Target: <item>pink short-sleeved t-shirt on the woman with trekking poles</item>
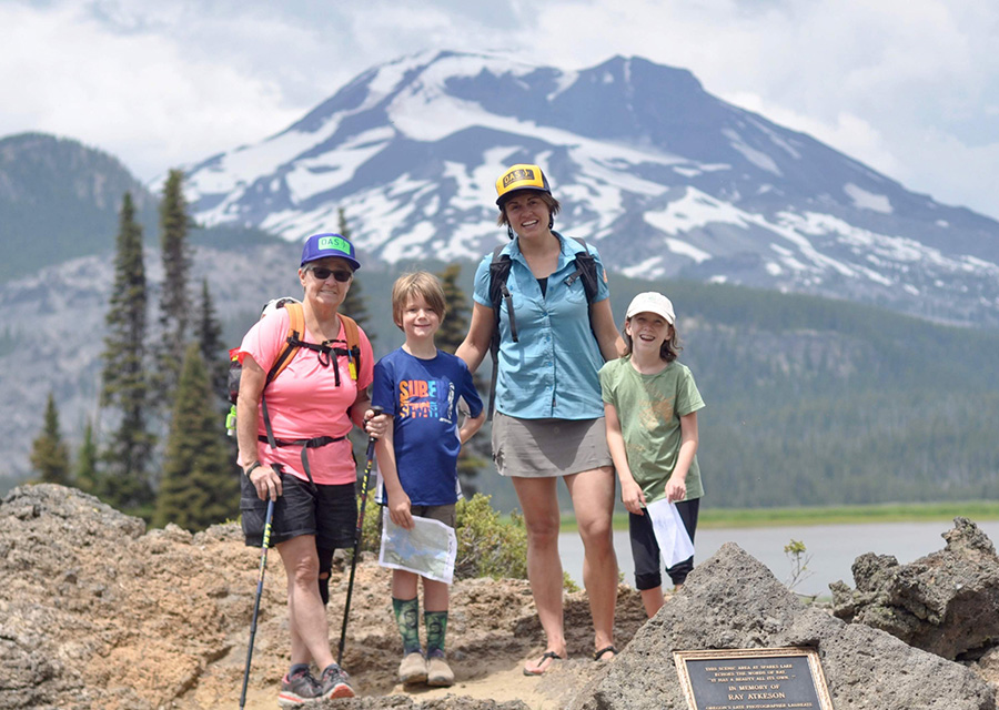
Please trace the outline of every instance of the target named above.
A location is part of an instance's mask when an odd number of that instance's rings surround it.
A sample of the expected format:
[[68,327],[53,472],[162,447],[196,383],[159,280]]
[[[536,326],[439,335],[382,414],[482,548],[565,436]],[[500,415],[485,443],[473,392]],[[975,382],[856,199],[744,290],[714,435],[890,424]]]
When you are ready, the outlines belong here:
[[[243,337],[240,349],[270,372],[278,353],[287,337],[289,315],[279,308],[265,318],[256,322]],[[305,342],[320,343],[311,333],[305,334]],[[343,324],[336,343],[345,346]],[[268,414],[274,436],[285,442],[311,439],[317,436],[346,436],[353,424],[347,416],[347,407],[357,398],[359,387],[366,389],[372,382],[374,356],[371,342],[364,331],[359,328],[361,341],[361,372],[357,381],[351,379],[346,356],[336,358],[340,368],[340,386],[333,373],[333,363],[326,367],[320,363],[320,354],[300,347],[287,367],[264,389],[268,400]],[[325,357],[324,357],[325,359]],[[266,436],[263,413],[259,409],[258,434]],[[262,464],[282,464],[285,473],[303,480],[309,477],[302,469],[302,447],[284,446],[272,449],[266,442],[258,442],[256,455]],[[242,462],[241,462],[242,464]],[[351,443],[347,439],[309,449],[309,468],[316,484],[335,485],[354,483],[357,471],[351,456]]]

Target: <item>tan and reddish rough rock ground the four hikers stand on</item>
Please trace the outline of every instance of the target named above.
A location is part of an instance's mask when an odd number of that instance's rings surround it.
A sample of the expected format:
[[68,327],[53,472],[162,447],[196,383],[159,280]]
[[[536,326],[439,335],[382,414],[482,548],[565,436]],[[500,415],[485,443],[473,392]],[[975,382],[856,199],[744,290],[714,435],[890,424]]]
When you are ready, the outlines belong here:
[[[196,535],[172,525],[147,531],[142,520],[74,488],[13,489],[0,501],[0,710],[236,707],[259,566],[260,550],[243,545],[234,524]],[[347,577],[334,569],[331,578],[334,643]],[[343,660],[362,697],[330,704],[527,708],[512,692],[495,702],[461,697],[460,687],[446,699],[391,694],[401,646],[390,579],[391,570],[376,561],[357,565]],[[287,668],[285,585],[272,551],[248,710],[275,706]],[[586,658],[578,662],[589,670],[593,628],[583,592],[566,595],[565,616],[569,652]],[[617,619],[624,645],[645,621],[634,589],[619,587]],[[541,652],[542,638],[526,580],[453,586],[447,647],[460,684],[517,667]]]

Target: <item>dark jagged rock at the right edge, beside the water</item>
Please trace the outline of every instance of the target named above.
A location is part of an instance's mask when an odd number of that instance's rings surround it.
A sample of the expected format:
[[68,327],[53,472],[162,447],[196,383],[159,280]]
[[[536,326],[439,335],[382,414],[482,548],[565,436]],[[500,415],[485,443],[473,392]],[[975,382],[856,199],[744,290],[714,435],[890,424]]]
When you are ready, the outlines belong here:
[[830,585],[834,613],[948,659],[977,659],[999,645],[999,557],[977,525],[953,523],[945,549],[909,565],[858,557],[856,590]]

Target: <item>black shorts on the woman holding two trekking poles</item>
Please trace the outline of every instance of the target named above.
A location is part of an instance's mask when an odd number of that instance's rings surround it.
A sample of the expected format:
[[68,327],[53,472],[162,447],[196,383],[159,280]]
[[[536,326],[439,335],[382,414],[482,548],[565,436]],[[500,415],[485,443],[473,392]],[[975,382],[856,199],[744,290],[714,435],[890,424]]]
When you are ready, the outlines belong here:
[[[246,545],[263,545],[268,501],[256,496],[250,478],[241,476],[243,535]],[[271,546],[299,537],[314,535],[319,549],[333,550],[354,546],[357,529],[357,498],[354,484],[316,485],[291,474],[281,474],[282,495],[274,503],[271,521]]]

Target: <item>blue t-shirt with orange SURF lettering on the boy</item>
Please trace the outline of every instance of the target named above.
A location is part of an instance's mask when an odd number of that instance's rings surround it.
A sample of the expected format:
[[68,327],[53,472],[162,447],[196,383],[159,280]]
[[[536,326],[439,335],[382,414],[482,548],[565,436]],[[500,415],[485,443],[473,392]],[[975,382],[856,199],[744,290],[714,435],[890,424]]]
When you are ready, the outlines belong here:
[[371,403],[394,418],[395,464],[414,506],[457,500],[458,400],[473,417],[482,399],[463,361],[437,351],[421,359],[398,348],[377,362]]

